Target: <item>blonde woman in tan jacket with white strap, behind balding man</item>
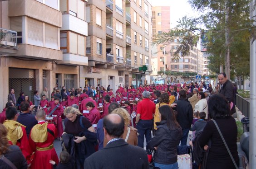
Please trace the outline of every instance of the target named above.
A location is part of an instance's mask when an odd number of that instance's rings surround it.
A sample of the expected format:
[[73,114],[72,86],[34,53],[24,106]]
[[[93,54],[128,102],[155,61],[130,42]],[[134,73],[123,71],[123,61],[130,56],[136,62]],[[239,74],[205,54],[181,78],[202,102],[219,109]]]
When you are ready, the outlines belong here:
[[[124,132],[123,139],[130,145],[137,146],[138,145],[138,134],[137,130],[133,127],[130,127],[131,116],[124,108],[116,108],[111,112],[111,114],[118,114],[123,117],[124,120]],[[107,145],[108,141],[104,138],[104,147]]]

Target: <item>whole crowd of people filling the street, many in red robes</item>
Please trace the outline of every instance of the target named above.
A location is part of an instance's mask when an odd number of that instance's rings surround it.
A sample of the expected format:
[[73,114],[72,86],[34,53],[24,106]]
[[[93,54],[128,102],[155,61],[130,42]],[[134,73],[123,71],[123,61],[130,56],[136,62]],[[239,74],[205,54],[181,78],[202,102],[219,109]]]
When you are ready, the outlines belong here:
[[[50,97],[47,88],[42,94],[34,91],[34,104],[24,92],[16,101],[10,89],[0,113],[0,155],[9,162],[0,160],[0,168],[13,164],[18,169],[147,169],[146,148],[155,151],[156,167],[177,169],[177,146],[187,145],[189,130],[193,131],[189,145],[206,151],[207,169],[235,168],[212,122],[217,122],[238,164],[237,127],[231,116],[235,91],[225,73],[218,79],[214,89],[204,82],[146,84],[136,89],[120,84],[115,93],[110,85],[107,89],[99,84],[84,89],[56,85]],[[62,141],[59,158],[54,139]],[[17,159],[14,154],[23,156]]]

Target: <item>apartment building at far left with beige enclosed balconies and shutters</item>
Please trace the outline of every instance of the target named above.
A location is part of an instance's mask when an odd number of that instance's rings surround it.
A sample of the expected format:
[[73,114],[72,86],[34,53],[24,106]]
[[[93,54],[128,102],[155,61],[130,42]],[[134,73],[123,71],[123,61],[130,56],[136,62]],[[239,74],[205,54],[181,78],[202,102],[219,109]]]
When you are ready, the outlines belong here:
[[[87,0],[1,0],[0,109],[9,89],[33,101],[34,91],[80,86],[85,55]],[[60,11],[61,9],[61,11]]]

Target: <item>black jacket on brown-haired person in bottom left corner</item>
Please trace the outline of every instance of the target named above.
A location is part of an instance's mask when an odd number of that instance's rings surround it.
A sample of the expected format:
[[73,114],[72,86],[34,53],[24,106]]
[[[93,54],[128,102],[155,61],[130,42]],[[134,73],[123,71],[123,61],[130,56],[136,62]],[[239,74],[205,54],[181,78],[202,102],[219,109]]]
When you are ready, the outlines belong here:
[[[9,151],[4,154],[5,157],[10,160],[17,167],[17,169],[27,169],[28,165],[21,153],[20,147],[11,145],[8,148]],[[3,160],[0,160],[0,169],[10,169],[10,166]]]

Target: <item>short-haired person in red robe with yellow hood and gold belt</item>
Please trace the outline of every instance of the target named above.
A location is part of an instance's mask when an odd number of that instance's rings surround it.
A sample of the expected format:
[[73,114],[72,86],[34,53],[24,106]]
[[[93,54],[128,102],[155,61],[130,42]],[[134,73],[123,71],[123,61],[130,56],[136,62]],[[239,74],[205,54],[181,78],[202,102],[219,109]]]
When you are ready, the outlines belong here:
[[[57,129],[54,124],[45,122],[45,112],[38,110],[36,112],[38,124],[30,131],[29,143],[34,158],[30,169],[53,169],[53,165],[49,160],[59,163],[58,155],[54,149],[54,139],[57,137]],[[62,134],[62,133],[61,133]]]

